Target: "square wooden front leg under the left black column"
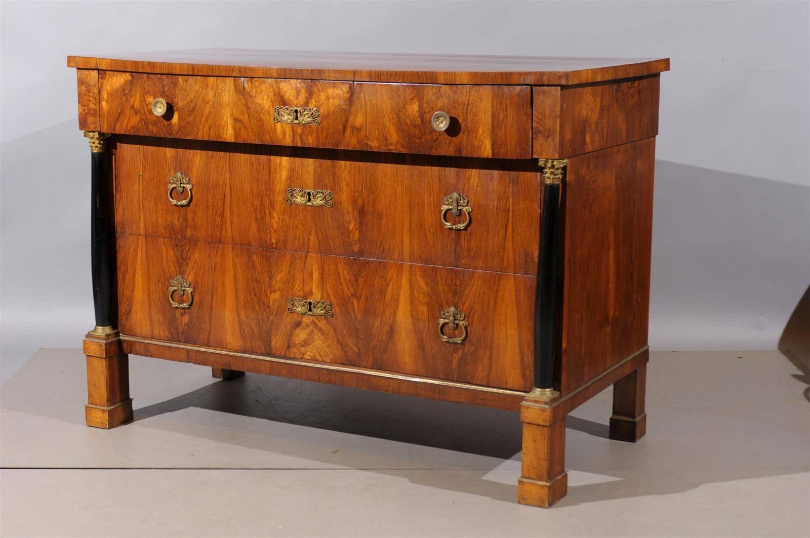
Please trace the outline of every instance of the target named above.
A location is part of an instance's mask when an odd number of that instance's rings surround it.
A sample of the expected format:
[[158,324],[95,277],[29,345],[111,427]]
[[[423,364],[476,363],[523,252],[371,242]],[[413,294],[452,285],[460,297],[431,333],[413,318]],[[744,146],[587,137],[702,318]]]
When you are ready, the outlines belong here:
[[131,421],[129,357],[122,351],[118,332],[87,333],[83,350],[87,358],[87,425],[110,429]]

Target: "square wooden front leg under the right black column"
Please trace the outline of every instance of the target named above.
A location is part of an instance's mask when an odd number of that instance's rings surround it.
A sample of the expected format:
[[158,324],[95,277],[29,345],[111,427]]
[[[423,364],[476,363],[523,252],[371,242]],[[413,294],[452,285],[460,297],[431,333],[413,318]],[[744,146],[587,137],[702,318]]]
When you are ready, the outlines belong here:
[[551,425],[537,424],[533,400],[521,405],[523,454],[518,480],[518,502],[548,508],[568,492],[565,472],[565,416]]

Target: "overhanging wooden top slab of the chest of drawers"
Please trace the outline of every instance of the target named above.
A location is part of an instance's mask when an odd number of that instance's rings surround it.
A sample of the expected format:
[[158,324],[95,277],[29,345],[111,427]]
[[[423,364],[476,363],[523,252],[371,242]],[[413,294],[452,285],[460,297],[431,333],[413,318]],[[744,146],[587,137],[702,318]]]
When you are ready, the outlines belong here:
[[192,49],[69,56],[79,69],[162,75],[440,84],[570,85],[653,75],[669,58],[552,58],[462,54]]

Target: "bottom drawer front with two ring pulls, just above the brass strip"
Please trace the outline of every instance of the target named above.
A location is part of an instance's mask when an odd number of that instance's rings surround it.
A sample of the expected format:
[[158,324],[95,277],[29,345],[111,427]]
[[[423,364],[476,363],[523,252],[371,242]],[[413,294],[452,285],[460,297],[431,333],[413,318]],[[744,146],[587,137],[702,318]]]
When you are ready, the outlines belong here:
[[126,335],[531,389],[530,276],[128,235],[117,247]]

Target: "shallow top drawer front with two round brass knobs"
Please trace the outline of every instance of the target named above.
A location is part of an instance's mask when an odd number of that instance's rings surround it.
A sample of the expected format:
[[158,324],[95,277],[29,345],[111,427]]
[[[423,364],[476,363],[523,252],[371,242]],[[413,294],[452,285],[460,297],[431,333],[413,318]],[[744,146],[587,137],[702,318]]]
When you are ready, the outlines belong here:
[[[531,88],[100,71],[100,128],[177,139],[531,158]],[[152,102],[163,99],[157,116]],[[281,107],[279,109],[279,107]],[[309,110],[305,110],[309,109]],[[317,117],[312,109],[317,109]],[[431,124],[441,111],[446,130]]]

